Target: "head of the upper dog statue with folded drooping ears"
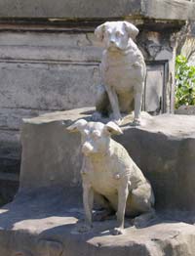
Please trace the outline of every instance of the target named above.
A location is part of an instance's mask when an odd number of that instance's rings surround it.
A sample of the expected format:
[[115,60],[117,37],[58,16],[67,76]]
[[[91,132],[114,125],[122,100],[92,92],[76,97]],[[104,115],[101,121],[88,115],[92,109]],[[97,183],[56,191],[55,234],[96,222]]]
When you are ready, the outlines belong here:
[[100,24],[95,30],[99,41],[110,51],[126,50],[138,34],[137,27],[128,21],[108,21]]

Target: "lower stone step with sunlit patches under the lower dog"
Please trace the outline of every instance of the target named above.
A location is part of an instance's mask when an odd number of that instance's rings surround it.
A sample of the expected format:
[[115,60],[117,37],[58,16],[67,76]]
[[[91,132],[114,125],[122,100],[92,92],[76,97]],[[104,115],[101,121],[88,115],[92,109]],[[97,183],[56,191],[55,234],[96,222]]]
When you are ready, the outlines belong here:
[[[110,231],[115,221],[95,222],[89,234],[77,233],[83,218],[81,192],[42,189],[20,192],[0,209],[0,254],[3,256],[191,256],[195,226],[157,216],[148,227],[136,229],[126,220],[124,235]],[[44,242],[56,242],[50,251]],[[22,254],[21,254],[22,253]]]

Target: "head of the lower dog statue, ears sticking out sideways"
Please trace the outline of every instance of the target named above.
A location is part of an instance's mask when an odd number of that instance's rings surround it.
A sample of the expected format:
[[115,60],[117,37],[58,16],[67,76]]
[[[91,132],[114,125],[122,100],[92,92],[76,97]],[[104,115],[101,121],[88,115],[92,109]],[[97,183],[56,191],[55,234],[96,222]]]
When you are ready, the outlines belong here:
[[82,152],[86,156],[105,154],[109,149],[110,136],[122,134],[122,130],[114,122],[103,124],[87,122],[80,119],[67,127],[69,132],[80,132],[82,137]]

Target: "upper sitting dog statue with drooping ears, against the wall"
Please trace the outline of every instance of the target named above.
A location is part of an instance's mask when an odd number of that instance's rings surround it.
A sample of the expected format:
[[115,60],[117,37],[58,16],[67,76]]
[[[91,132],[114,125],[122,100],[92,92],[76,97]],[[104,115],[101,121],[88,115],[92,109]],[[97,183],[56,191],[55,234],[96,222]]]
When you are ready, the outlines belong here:
[[137,27],[127,21],[107,21],[97,27],[95,35],[105,50],[100,64],[102,86],[98,90],[95,120],[100,115],[113,115],[120,124],[121,113],[135,110],[134,125],[140,124],[142,93],[146,67],[134,40]]

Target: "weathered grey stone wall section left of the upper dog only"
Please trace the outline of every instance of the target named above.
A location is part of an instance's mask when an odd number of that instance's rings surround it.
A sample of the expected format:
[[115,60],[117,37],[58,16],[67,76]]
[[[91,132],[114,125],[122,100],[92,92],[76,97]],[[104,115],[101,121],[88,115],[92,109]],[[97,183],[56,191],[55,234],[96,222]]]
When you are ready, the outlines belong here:
[[100,55],[92,32],[0,32],[0,174],[4,180],[15,185],[19,179],[22,118],[94,105]]

